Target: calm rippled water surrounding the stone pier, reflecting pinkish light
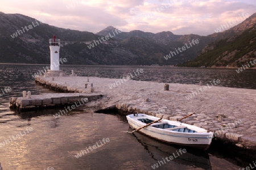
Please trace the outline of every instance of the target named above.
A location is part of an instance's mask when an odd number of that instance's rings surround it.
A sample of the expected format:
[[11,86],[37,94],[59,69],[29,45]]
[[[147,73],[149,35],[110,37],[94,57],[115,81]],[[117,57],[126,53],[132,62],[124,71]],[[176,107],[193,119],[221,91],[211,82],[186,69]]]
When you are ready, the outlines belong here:
[[[44,66],[45,67],[45,66]],[[142,66],[65,66],[67,74],[75,70],[79,76],[101,76],[120,78],[138,68],[144,73],[136,80],[151,80],[165,83],[207,83],[220,79],[220,86],[256,89],[256,70],[240,74],[226,69],[181,69]],[[126,118],[118,114],[93,113],[85,107],[72,110],[55,119],[52,114],[59,109],[47,109],[18,113],[9,109],[9,97],[21,96],[22,91],[32,94],[52,92],[38,86],[32,74],[43,66],[0,65],[0,90],[11,87],[12,91],[0,97],[0,143],[13,136],[22,137],[0,145],[0,162],[4,170],[9,169],[153,169],[158,161],[176,154],[180,146],[170,146],[144,137],[139,133],[127,134]],[[29,133],[26,128],[32,128]],[[24,131],[25,130],[25,131]],[[26,134],[25,134],[26,132]],[[85,148],[100,143],[103,138],[109,142],[75,158]],[[157,169],[239,169],[250,161],[232,154],[222,154],[214,145],[208,152],[189,150]]]

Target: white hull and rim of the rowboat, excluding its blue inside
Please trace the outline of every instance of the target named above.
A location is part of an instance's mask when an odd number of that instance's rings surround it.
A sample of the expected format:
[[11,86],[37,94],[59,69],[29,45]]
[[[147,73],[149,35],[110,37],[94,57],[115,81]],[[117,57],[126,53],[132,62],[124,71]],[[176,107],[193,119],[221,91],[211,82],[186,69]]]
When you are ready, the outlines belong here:
[[[145,123],[139,121],[140,118],[148,118],[150,120],[158,120],[159,118],[148,116],[146,114],[138,114],[137,116],[134,116],[133,114],[130,114],[127,117],[127,120],[133,129],[139,129],[142,126],[146,125]],[[198,131],[207,131],[203,128],[199,128],[197,126],[188,125],[188,124],[181,124],[177,121],[169,121],[169,120],[162,120],[163,124],[168,123],[175,126],[186,126],[189,129],[193,129],[197,131],[196,133],[181,133],[179,131],[173,131],[173,130],[165,130],[161,128],[155,128],[154,124],[147,126],[146,128],[143,128],[139,130],[139,133],[142,133],[144,135],[147,135],[148,137],[154,138],[158,141],[162,141],[165,143],[175,144],[175,145],[181,145],[181,146],[187,146],[187,147],[193,147],[193,148],[200,148],[203,150],[207,150],[210,146],[210,143],[212,142],[213,133],[212,132],[198,132]]]

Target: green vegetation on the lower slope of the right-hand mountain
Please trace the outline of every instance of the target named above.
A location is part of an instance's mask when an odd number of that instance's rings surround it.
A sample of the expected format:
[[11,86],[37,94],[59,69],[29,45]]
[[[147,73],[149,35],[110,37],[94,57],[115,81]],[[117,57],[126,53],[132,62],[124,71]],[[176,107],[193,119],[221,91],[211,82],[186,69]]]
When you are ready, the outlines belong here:
[[[230,38],[232,39],[232,38]],[[225,39],[212,42],[198,57],[185,62],[180,66],[187,67],[212,67],[233,66],[241,67],[247,61],[255,59],[256,29],[246,29],[241,35],[233,40]],[[210,47],[213,47],[213,49]]]

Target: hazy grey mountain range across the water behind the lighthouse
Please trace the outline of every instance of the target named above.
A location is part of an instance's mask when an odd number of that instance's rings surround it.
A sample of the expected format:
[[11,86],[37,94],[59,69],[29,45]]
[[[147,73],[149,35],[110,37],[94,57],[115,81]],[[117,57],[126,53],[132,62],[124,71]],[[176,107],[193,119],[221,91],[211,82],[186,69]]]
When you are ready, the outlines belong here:
[[[208,52],[208,48],[215,48],[214,44],[208,45],[213,41],[231,41],[241,35],[243,29],[253,25],[252,20],[255,17],[250,18],[244,25],[237,25],[234,29],[209,36],[174,35],[170,31],[123,32],[112,26],[94,34],[57,28],[22,14],[0,12],[0,62],[49,63],[48,39],[56,35],[57,39],[61,40],[60,57],[65,57],[68,61],[65,64],[177,65],[192,61],[200,53]],[[199,44],[176,53],[177,49],[192,40],[198,40]],[[176,54],[170,57],[172,52]]]

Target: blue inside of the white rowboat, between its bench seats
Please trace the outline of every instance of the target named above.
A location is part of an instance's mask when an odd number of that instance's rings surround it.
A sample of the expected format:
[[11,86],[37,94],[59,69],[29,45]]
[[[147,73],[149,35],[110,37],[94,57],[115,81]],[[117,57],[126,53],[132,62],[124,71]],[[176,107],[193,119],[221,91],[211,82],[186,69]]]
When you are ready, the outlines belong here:
[[[149,120],[148,118],[140,118],[138,119],[139,121],[144,122],[145,124],[150,124],[151,122],[153,122],[154,120]],[[157,124],[157,125],[152,125],[155,128],[160,128],[160,129],[167,129],[167,128],[176,128],[177,126],[175,125],[170,125],[167,123],[163,123],[163,124]],[[179,132],[184,132],[184,133],[196,133],[197,131],[195,130],[191,130],[188,128],[179,128],[179,129],[174,129],[172,131],[179,131]]]

